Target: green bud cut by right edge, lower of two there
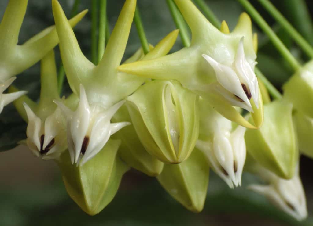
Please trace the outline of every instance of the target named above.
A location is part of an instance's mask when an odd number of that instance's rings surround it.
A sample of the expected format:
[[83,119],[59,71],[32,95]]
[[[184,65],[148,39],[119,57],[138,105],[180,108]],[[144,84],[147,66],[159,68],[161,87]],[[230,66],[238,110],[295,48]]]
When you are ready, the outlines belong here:
[[296,111],[293,114],[300,152],[313,158],[313,118]]

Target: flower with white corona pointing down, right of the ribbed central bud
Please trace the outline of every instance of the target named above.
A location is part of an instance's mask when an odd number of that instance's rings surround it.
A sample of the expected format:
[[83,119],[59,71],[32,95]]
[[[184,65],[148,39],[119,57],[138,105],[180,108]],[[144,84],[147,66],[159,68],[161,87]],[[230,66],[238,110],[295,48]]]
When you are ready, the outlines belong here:
[[207,101],[200,101],[200,131],[196,147],[201,150],[212,169],[230,188],[241,186],[241,174],[246,159],[245,128],[232,128],[232,122]]

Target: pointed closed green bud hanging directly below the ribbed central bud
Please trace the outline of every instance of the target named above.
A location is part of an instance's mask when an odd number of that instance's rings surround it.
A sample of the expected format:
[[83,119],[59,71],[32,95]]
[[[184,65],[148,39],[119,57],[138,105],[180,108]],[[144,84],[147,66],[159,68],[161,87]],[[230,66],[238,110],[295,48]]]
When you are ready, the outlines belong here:
[[194,149],[180,164],[165,164],[157,177],[165,190],[192,212],[203,209],[209,183],[209,165],[204,154]]

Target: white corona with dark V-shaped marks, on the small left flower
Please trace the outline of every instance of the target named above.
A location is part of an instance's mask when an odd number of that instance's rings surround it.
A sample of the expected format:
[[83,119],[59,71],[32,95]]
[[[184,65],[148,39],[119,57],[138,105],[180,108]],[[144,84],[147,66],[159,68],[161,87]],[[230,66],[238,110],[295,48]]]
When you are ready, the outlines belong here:
[[67,148],[61,110],[57,108],[42,122],[25,102],[23,105],[28,117],[27,146],[37,157],[44,160],[57,159]]

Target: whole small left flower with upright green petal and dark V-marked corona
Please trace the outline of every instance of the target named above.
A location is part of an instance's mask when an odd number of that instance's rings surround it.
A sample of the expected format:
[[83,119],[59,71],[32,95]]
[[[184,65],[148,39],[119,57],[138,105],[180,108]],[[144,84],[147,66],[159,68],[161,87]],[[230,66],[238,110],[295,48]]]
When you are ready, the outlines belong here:
[[[22,96],[14,105],[23,119],[28,122],[27,139],[23,144],[33,152],[34,155],[44,160],[57,159],[66,150],[66,124],[61,110],[53,103],[58,99],[57,72],[54,61],[54,52],[51,51],[41,60],[41,92],[38,104],[35,104],[27,96]],[[9,91],[16,91],[10,87]],[[75,103],[75,97],[62,100],[69,104]]]

